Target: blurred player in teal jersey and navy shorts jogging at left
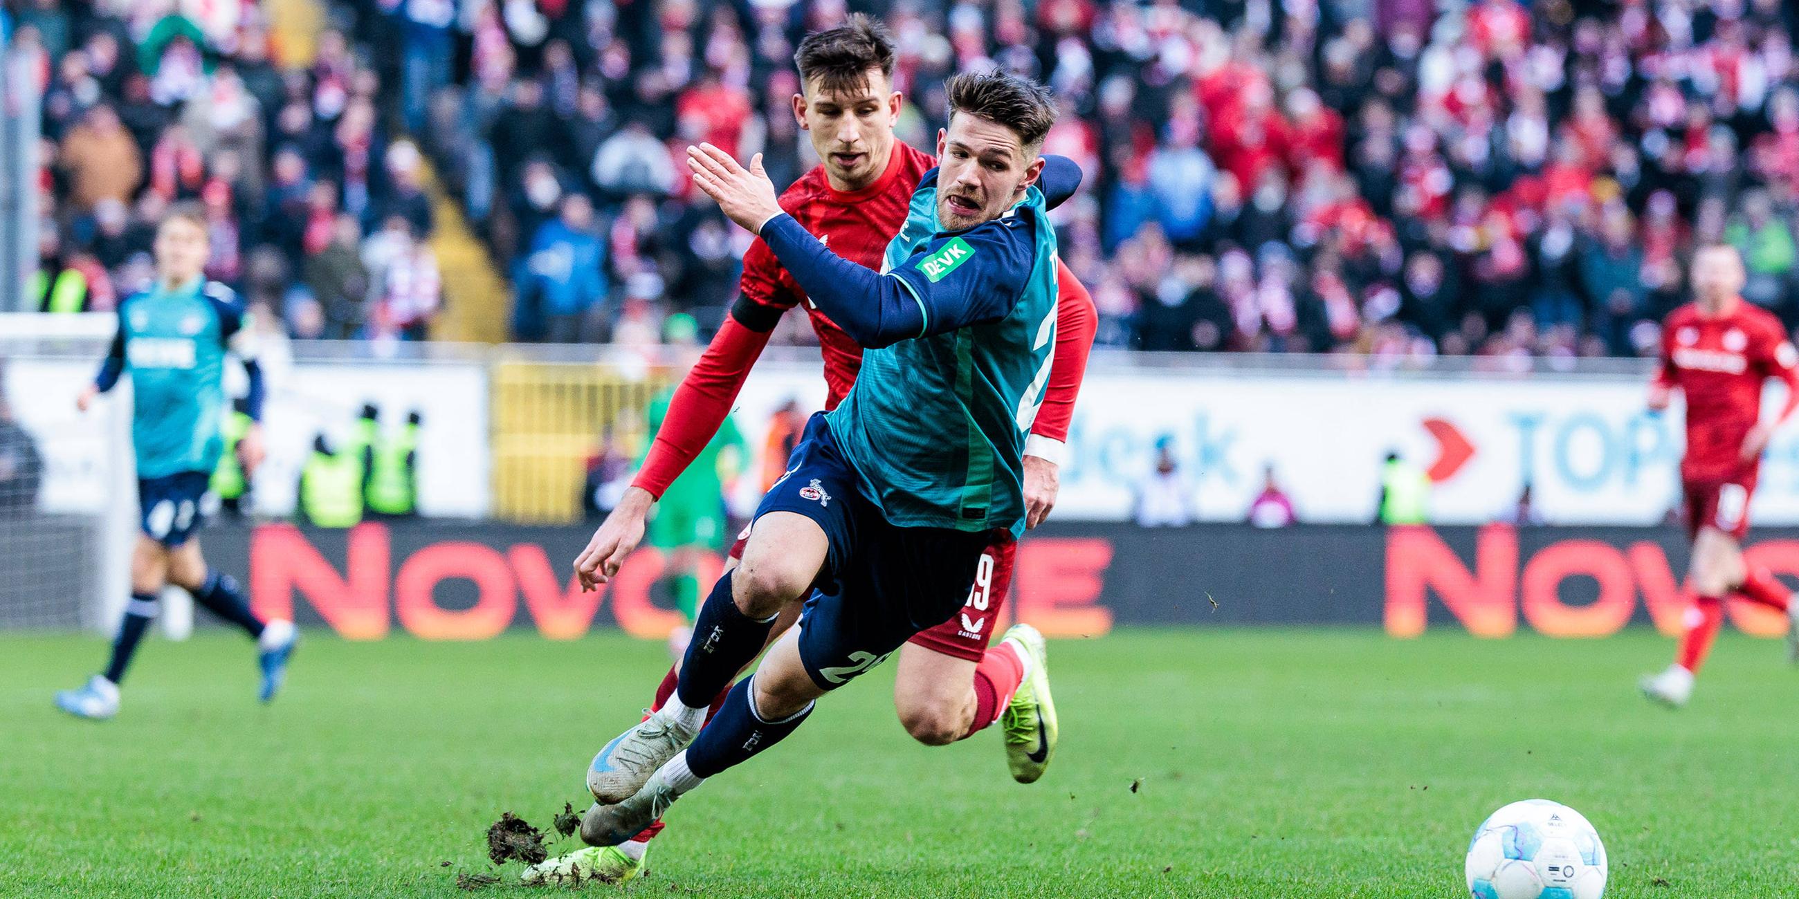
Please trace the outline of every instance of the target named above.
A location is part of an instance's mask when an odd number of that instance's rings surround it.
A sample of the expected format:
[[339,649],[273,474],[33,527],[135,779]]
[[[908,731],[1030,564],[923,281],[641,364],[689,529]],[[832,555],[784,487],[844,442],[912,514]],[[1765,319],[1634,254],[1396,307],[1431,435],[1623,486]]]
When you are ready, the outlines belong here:
[[237,295],[205,279],[212,246],[198,210],[171,210],[157,228],[157,282],[119,304],[119,333],[76,406],[86,412],[99,394],[131,376],[131,442],[137,450],[139,525],[131,552],[131,601],[113,638],[106,671],[76,690],[56,694],[58,708],[92,719],[119,712],[119,683],[167,584],[194,595],[219,619],[257,642],[263,678],[257,696],[273,699],[286,678],[295,629],[261,620],[237,583],[207,568],[194,534],[212,500],[207,484],[218,467],[225,417],[225,356],[236,354],[250,379],[246,412],[257,424],[237,442],[245,475],[263,458],[263,370],[250,349]]

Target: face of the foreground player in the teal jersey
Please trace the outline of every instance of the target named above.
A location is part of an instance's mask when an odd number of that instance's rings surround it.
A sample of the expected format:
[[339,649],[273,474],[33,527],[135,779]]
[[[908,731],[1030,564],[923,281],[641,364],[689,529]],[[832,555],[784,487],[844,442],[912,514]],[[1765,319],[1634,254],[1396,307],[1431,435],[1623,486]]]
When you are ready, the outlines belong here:
[[1043,158],[1018,131],[964,111],[937,131],[937,223],[973,228],[1006,214],[1036,183]]

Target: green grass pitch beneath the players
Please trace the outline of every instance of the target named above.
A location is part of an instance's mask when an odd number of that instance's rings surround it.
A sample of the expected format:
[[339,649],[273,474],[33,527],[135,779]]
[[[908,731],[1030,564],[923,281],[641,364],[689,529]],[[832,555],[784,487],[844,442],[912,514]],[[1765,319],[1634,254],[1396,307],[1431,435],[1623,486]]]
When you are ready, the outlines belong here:
[[[115,721],[56,712],[103,653],[0,636],[4,895],[466,895],[488,823],[579,807],[586,761],[666,667],[617,635],[313,633],[261,708],[250,645],[214,631],[146,645]],[[1599,827],[1612,899],[1799,895],[1799,671],[1727,636],[1666,712],[1633,681],[1668,653],[1648,631],[1052,642],[1061,748],[1034,786],[997,732],[907,739],[885,665],[684,798],[624,892],[1455,897],[1481,818],[1547,797]],[[541,892],[500,874],[480,894]]]

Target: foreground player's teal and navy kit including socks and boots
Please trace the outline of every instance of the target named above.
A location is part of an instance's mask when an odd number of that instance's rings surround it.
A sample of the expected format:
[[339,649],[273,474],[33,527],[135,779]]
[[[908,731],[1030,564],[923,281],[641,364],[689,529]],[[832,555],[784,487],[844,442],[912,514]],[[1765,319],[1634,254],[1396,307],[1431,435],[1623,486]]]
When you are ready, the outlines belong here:
[[[819,311],[865,347],[855,387],[808,421],[756,512],[799,514],[826,536],[799,622],[801,663],[820,690],[955,615],[989,538],[1024,529],[1024,437],[1049,379],[1058,302],[1043,212],[1079,187],[1079,167],[1045,160],[1040,183],[1002,218],[946,232],[926,173],[882,273],[831,254],[784,212],[757,228]],[[588,789],[601,804],[581,822],[588,843],[630,840],[680,793],[774,746],[811,712],[808,703],[765,717],[757,671],[702,726],[779,617],[739,610],[736,574],[700,608],[675,696],[594,757]]]

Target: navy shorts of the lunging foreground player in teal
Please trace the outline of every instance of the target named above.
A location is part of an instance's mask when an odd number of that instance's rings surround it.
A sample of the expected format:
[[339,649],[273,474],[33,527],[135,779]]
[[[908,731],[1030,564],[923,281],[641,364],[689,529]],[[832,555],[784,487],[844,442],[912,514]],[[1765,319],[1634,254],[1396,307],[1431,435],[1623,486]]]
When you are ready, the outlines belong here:
[[799,620],[799,656],[822,690],[887,660],[912,635],[950,620],[968,599],[993,534],[891,525],[862,496],[856,469],[824,414],[806,423],[788,471],[756,518],[795,512],[829,541],[824,572]]

